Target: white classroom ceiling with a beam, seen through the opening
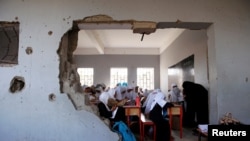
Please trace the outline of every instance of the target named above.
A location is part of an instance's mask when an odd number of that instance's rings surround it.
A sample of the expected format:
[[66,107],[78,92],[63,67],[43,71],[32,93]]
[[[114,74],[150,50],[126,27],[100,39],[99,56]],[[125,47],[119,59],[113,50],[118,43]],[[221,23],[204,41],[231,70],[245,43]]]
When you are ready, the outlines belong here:
[[82,29],[78,32],[75,55],[159,55],[185,29],[156,29],[150,34],[133,33],[132,29]]

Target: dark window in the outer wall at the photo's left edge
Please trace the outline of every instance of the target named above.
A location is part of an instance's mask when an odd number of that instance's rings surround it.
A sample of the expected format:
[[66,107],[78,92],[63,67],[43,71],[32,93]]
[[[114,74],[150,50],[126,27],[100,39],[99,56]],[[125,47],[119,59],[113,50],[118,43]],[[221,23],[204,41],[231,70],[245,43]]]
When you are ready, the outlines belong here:
[[0,64],[18,64],[19,23],[0,22]]

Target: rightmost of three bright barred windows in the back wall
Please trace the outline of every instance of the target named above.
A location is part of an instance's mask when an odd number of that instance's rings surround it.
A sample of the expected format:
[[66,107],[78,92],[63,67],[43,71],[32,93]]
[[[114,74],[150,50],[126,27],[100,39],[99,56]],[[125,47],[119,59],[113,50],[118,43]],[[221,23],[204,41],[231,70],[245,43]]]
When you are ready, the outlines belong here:
[[154,89],[154,68],[137,68],[137,85],[143,89]]

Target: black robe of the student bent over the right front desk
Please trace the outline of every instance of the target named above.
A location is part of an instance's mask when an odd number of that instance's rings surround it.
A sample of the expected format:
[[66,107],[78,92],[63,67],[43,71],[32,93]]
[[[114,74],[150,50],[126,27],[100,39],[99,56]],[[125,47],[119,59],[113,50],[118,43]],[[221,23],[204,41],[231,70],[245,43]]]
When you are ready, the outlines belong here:
[[149,113],[149,118],[156,125],[156,141],[170,141],[171,130],[169,120],[162,115],[162,110],[167,110],[169,106],[172,106],[172,104],[167,103],[163,108],[159,104],[155,104]]

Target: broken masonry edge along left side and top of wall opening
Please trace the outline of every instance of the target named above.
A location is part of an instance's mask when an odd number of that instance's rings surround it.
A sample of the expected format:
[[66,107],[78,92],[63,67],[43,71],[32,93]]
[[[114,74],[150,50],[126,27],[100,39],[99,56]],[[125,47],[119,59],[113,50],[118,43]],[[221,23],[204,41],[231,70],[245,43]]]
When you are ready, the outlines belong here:
[[[191,22],[140,22],[135,20],[116,21],[106,15],[96,15],[73,21],[73,27],[61,38],[60,47],[57,51],[60,57],[60,91],[66,93],[76,110],[86,107],[85,96],[77,72],[77,65],[73,60],[73,52],[77,49],[78,32],[85,29],[105,29],[105,28],[130,28],[133,33],[150,34],[157,29],[182,28],[200,30],[207,29],[211,23],[191,23]],[[105,54],[104,49],[97,48],[99,54]]]

